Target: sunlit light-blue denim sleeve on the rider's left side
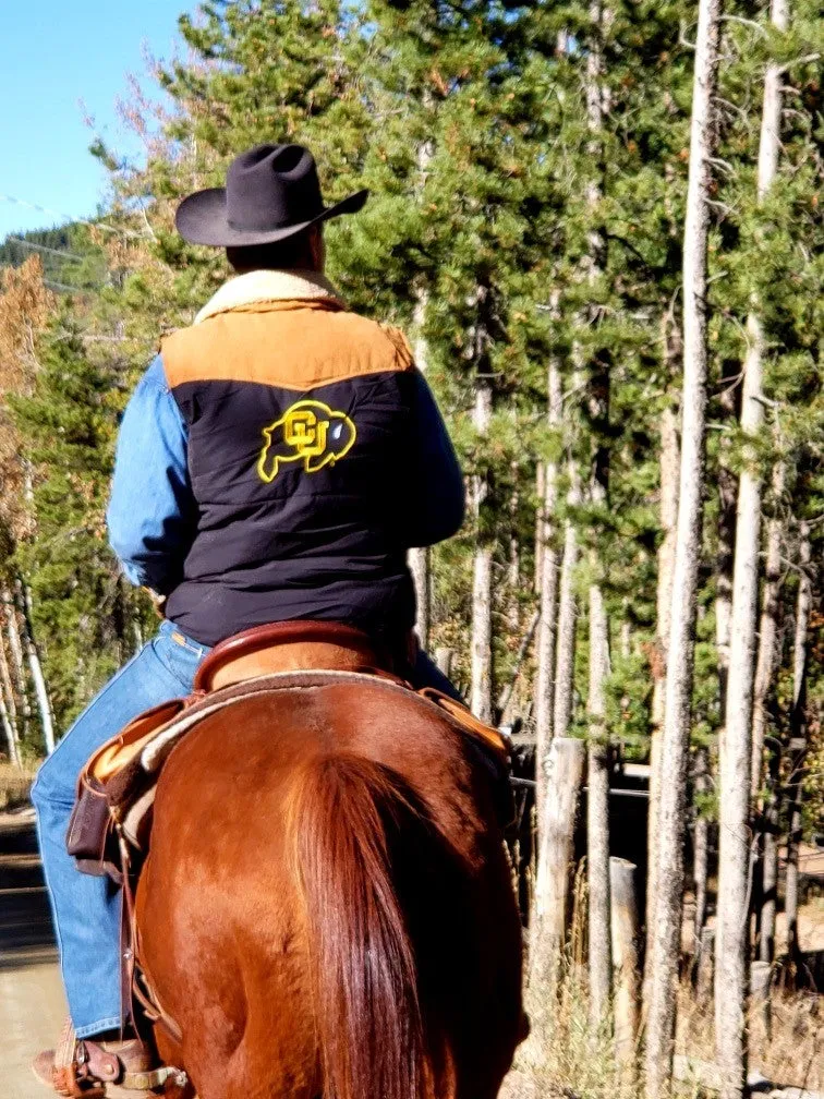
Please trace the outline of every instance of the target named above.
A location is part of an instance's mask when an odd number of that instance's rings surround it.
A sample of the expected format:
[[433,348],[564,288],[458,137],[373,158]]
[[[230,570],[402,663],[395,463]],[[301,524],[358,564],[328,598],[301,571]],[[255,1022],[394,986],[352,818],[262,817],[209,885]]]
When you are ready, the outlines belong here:
[[187,447],[186,424],[158,355],[123,413],[107,520],[129,580],[160,595],[179,582],[194,534]]

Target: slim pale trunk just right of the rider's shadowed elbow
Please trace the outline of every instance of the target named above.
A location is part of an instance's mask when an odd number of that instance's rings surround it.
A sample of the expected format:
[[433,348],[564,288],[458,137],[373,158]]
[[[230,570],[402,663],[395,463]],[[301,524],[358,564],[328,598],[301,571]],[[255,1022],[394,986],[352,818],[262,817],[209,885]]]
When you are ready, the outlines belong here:
[[[492,387],[479,378],[475,397],[475,429],[483,436],[492,420]],[[492,720],[492,546],[482,530],[483,502],[489,493],[486,477],[472,478],[472,508],[477,544],[472,576],[472,646],[470,708],[481,721]]]

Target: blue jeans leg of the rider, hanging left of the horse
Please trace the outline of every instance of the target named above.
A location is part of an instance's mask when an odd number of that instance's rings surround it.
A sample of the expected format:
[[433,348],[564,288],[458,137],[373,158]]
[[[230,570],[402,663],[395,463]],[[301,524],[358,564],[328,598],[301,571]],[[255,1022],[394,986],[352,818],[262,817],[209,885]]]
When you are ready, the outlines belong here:
[[80,874],[66,851],[78,776],[89,756],[132,718],[187,695],[208,652],[164,622],[80,714],[32,788],[63,983],[78,1037],[121,1024],[120,891],[108,878]]

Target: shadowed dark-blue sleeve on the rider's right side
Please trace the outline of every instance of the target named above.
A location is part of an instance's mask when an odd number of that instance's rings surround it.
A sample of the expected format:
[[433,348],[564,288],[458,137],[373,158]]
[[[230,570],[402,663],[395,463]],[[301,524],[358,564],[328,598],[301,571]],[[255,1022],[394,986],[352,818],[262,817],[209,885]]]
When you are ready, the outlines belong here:
[[420,370],[414,373],[404,541],[428,546],[452,537],[466,510],[464,475],[441,411]]

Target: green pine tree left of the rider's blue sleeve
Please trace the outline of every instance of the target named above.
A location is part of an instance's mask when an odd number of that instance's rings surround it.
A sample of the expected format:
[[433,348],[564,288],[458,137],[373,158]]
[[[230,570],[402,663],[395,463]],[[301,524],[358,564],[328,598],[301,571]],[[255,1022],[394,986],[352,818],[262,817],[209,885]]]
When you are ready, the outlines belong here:
[[16,559],[65,729],[131,651],[104,525],[116,414],[108,400],[111,368],[90,360],[67,309],[43,336],[38,359],[31,393],[11,401],[33,467],[36,531]]

